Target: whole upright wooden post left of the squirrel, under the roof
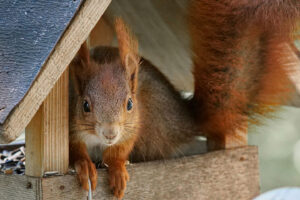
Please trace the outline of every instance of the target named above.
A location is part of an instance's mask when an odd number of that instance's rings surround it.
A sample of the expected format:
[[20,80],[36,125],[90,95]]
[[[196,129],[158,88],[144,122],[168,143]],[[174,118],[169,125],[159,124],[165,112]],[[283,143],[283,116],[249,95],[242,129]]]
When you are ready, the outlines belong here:
[[66,173],[69,165],[69,72],[56,82],[26,127],[26,175]]

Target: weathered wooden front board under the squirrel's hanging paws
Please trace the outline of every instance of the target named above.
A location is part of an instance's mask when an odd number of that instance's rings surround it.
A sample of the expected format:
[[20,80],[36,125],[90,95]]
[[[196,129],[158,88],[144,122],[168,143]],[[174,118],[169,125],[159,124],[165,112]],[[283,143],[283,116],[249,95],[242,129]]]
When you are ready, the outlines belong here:
[[[257,148],[247,146],[180,159],[127,166],[124,199],[250,200],[259,194]],[[107,172],[99,170],[93,199],[113,199]],[[76,176],[42,179],[43,199],[86,199]]]

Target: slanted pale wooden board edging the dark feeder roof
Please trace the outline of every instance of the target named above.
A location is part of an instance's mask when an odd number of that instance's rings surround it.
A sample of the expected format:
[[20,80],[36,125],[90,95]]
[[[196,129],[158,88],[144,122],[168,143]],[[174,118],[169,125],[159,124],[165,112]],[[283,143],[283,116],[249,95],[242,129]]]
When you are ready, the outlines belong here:
[[29,124],[50,90],[66,70],[81,44],[111,0],[84,1],[19,105],[0,126],[0,143],[16,139]]

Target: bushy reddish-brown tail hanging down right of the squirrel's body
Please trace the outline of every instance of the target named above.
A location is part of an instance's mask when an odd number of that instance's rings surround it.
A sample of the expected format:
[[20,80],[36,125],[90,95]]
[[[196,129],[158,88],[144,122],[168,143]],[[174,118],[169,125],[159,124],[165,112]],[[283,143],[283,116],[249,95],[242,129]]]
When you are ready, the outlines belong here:
[[290,44],[299,0],[191,0],[190,34],[199,125],[224,148],[250,119],[288,100]]

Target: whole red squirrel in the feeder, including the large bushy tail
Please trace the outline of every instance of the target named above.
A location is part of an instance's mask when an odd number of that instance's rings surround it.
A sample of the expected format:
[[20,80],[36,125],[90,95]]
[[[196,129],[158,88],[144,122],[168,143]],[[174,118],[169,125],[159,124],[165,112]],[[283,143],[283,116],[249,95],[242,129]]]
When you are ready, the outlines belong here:
[[[265,115],[288,94],[284,44],[300,15],[296,0],[191,1],[195,93],[186,100],[150,62],[122,20],[118,48],[80,48],[70,65],[70,163],[96,188],[92,163],[108,166],[122,198],[125,162],[169,158],[204,134],[224,148],[248,117]],[[285,68],[285,69],[284,69]],[[253,120],[256,122],[256,120]]]

